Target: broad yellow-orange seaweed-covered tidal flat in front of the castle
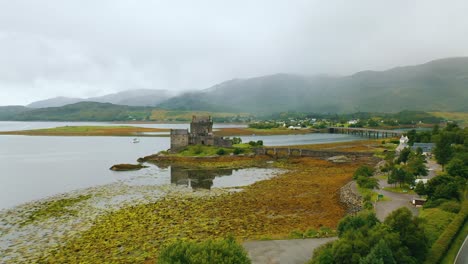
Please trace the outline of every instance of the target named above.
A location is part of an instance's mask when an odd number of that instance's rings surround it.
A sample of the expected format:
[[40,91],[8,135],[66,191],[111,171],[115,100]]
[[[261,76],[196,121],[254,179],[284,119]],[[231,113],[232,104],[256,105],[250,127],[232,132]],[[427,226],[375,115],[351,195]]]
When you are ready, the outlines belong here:
[[[339,188],[358,166],[372,161],[264,162],[275,173],[245,187],[194,192],[174,185],[114,183],[4,210],[0,258],[6,262],[153,263],[161,247],[177,239],[201,241],[227,235],[239,241],[279,239],[292,232],[334,229],[345,214]],[[227,166],[207,162],[203,167],[210,164]],[[46,210],[48,202],[60,200],[68,201],[66,210],[21,224],[35,211]]]

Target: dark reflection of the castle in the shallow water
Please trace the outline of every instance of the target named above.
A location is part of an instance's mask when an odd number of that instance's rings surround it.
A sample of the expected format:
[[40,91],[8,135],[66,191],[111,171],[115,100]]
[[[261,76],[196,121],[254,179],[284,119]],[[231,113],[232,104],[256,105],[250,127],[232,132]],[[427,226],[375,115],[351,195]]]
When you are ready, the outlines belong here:
[[213,187],[216,177],[231,176],[232,169],[189,169],[179,166],[171,166],[171,183],[187,186],[194,190]]

